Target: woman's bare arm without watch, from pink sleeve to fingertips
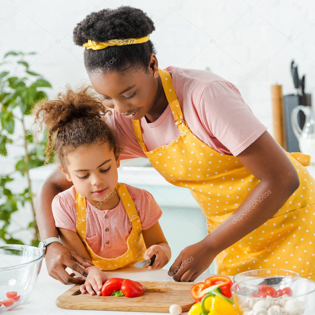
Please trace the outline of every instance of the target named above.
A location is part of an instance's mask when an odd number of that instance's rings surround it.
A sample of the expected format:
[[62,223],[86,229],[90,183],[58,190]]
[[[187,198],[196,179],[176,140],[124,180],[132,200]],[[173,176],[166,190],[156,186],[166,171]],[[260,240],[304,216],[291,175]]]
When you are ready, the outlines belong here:
[[[169,269],[169,275],[173,276],[175,281],[194,281],[222,250],[270,219],[300,185],[291,161],[267,131],[241,152],[238,158],[256,178],[261,180],[260,183],[220,226],[202,241],[186,247],[180,253]],[[248,204],[259,199],[261,194],[268,190],[272,192],[268,198],[243,216],[243,220],[236,220],[246,210]],[[191,256],[192,262],[182,267],[182,262]]]

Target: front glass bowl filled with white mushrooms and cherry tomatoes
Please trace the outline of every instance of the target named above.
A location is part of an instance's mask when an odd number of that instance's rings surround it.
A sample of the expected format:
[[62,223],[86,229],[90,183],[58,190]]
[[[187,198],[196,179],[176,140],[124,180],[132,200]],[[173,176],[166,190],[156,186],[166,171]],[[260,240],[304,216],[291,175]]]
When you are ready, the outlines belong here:
[[[275,279],[277,281],[275,281]],[[261,287],[261,282],[269,284]],[[272,282],[271,282],[272,283]],[[289,288],[289,295],[286,293],[280,297],[261,297],[259,289],[272,291]],[[310,315],[315,309],[315,282],[301,277],[249,277],[231,288],[233,300],[240,315]],[[285,289],[288,292],[288,289]],[[254,294],[254,296],[252,296]]]

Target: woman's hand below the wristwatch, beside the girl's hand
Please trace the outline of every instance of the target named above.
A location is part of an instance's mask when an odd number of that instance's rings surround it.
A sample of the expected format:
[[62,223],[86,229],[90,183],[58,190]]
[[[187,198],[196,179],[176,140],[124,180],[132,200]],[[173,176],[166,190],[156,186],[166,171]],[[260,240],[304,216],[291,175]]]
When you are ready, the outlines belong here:
[[84,282],[84,278],[75,278],[73,273],[69,275],[65,270],[66,267],[82,274],[84,277],[87,276],[87,273],[81,266],[93,266],[87,260],[58,242],[51,243],[47,246],[45,262],[49,276],[59,280],[63,284],[82,284]]

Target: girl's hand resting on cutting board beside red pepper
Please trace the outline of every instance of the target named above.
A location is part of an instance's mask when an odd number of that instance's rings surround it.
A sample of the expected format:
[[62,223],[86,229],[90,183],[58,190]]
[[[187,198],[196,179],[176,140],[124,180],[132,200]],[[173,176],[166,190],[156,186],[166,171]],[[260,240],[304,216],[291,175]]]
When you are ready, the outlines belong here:
[[85,283],[80,286],[81,293],[88,292],[90,295],[101,295],[103,283],[108,280],[106,273],[93,266],[85,269],[88,272]]

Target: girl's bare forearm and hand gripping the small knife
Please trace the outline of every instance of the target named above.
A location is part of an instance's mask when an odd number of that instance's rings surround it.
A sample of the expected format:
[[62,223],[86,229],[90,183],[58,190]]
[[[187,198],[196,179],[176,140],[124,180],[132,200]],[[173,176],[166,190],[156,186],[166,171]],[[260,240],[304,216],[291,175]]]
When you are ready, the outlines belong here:
[[155,261],[149,270],[163,268],[171,259],[171,249],[166,241],[160,224],[157,222],[149,229],[142,231],[144,242],[146,243],[146,252],[144,259],[150,259],[154,254]]

